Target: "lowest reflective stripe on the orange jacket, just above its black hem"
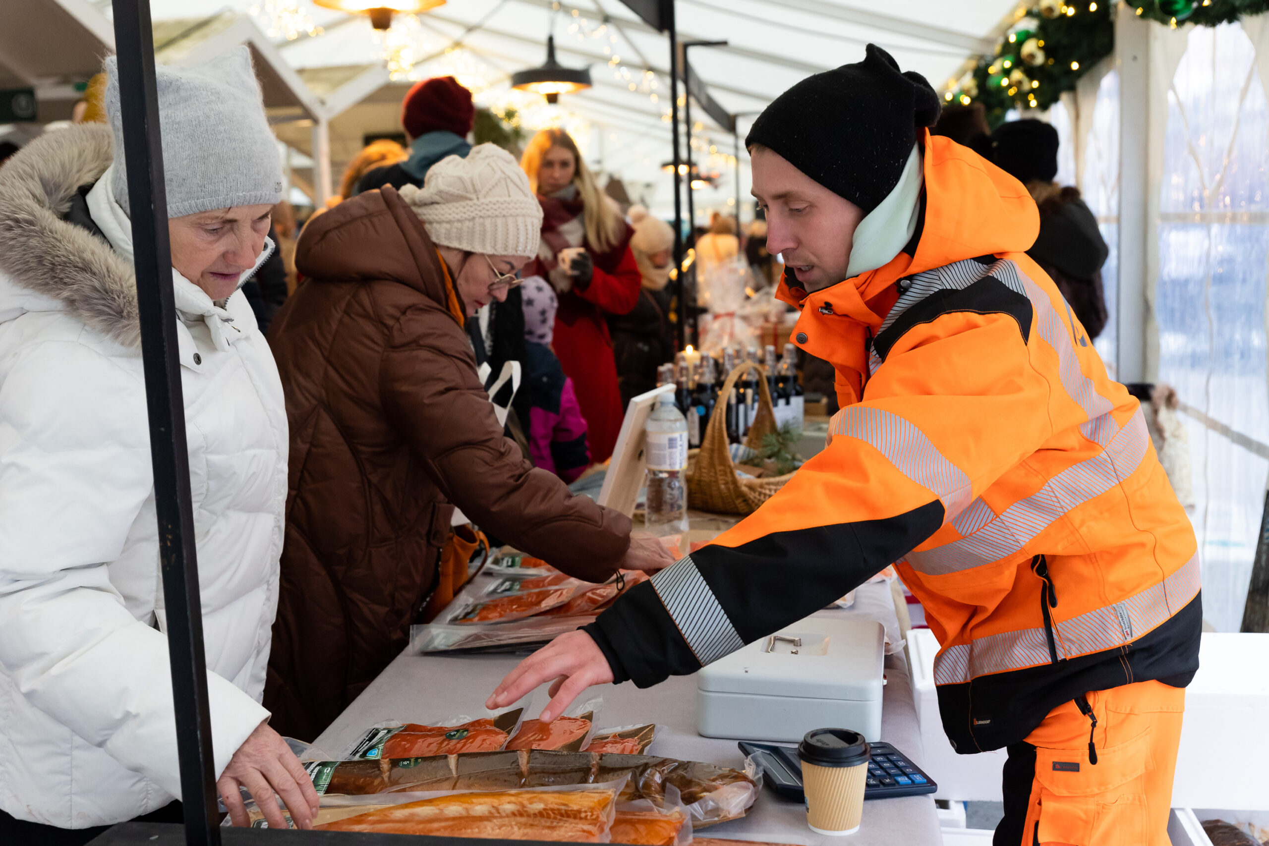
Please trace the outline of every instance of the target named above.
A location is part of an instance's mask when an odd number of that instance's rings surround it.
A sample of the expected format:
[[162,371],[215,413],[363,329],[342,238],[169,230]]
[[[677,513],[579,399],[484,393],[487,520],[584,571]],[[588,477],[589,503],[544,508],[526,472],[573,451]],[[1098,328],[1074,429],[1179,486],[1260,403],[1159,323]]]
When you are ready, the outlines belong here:
[[[1195,553],[1180,569],[1114,605],[1055,623],[1057,654],[1074,658],[1114,649],[1154,630],[1198,594]],[[934,684],[956,685],[978,676],[1051,662],[1044,627],[1003,632],[952,646],[934,658]]]

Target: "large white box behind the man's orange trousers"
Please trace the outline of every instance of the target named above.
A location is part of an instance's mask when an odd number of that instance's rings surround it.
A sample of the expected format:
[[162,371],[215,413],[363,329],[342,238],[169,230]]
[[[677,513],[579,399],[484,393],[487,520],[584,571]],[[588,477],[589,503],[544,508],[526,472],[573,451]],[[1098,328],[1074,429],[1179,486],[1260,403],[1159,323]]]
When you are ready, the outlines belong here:
[[[937,799],[1000,802],[1005,751],[957,755],[943,733],[934,691],[938,641],[907,635],[912,693],[925,747],[923,769]],[[1185,690],[1185,719],[1173,783],[1174,808],[1269,810],[1269,634],[1207,632],[1199,670]],[[1213,778],[1221,774],[1221,778]]]

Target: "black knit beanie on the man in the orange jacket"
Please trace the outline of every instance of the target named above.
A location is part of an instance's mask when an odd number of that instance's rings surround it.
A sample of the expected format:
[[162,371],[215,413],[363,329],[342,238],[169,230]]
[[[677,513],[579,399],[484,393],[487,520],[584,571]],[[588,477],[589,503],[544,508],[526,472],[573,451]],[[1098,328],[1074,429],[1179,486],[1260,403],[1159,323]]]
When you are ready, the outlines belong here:
[[898,184],[920,127],[939,119],[939,96],[915,71],[868,44],[864,61],[808,76],[754,122],[761,145],[829,190],[872,212]]

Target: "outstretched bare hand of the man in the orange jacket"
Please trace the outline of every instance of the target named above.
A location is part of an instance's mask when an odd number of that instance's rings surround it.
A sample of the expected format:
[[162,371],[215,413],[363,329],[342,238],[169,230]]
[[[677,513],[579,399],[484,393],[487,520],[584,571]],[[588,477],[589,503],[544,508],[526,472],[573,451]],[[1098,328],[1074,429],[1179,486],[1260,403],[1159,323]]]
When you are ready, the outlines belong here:
[[538,718],[543,723],[562,714],[586,687],[610,682],[613,670],[589,634],[581,630],[569,632],[516,665],[494,690],[485,708],[505,708],[552,679],[555,684],[551,685],[551,701]]

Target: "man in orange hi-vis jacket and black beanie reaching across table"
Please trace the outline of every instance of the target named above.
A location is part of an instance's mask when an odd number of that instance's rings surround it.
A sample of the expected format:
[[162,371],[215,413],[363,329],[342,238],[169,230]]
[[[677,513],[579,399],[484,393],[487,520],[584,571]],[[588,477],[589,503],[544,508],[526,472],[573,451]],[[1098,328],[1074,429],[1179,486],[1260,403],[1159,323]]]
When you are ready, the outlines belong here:
[[931,137],[869,46],[746,140],[793,340],[834,364],[830,443],[714,544],[527,658],[490,698],[690,674],[890,563],[925,606],[943,727],[1008,747],[996,846],[1166,846],[1197,544],[1137,401],[1025,255],[1025,189]]

